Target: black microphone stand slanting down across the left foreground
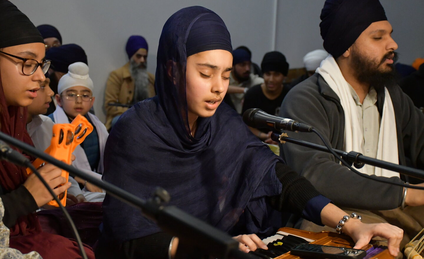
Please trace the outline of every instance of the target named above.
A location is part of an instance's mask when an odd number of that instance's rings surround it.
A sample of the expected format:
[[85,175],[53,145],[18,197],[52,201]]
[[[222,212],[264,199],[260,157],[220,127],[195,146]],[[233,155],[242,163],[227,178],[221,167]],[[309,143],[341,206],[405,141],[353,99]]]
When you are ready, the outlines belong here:
[[[158,187],[153,193],[153,197],[147,201],[91,175],[81,170],[61,162],[46,153],[35,149],[34,147],[21,142],[0,131],[0,140],[13,145],[26,153],[39,157],[45,162],[53,164],[67,172],[70,175],[78,176],[102,189],[108,194],[114,196],[141,209],[145,217],[155,221],[164,231],[179,237],[184,244],[190,244],[198,248],[202,253],[212,255],[214,258],[256,258],[251,254],[244,253],[238,249],[238,242],[229,234],[193,217],[176,206],[165,206],[170,201],[170,195],[165,189]],[[178,252],[177,252],[178,253]]]

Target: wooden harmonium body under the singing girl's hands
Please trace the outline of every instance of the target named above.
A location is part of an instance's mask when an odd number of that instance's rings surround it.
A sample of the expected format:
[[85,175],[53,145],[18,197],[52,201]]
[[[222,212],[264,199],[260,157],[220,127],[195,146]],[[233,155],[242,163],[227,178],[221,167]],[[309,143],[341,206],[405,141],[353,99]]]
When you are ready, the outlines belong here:
[[[299,256],[290,254],[290,248],[305,242],[346,248],[354,247],[353,240],[346,235],[329,231],[309,232],[295,228],[280,228],[276,235],[262,241],[268,246],[268,250],[257,249],[249,252],[262,259],[299,259]],[[387,247],[381,245],[381,242],[371,240],[368,245],[361,248],[367,251],[364,259],[393,259],[394,257],[391,256]]]

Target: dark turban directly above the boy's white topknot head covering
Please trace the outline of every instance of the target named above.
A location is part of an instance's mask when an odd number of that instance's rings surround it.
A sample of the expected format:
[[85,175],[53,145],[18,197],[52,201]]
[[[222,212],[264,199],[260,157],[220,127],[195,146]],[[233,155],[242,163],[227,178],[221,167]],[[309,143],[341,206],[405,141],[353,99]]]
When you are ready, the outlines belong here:
[[82,47],[76,44],[65,44],[52,47],[46,52],[46,58],[50,59],[53,70],[67,73],[70,64],[83,62],[88,65],[87,55]]

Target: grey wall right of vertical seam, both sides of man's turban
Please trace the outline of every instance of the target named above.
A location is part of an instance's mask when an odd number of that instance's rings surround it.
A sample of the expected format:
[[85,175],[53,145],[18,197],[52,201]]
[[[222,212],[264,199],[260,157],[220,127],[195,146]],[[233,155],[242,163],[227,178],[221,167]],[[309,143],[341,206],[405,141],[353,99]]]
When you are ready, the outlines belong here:
[[[276,50],[285,54],[291,68],[303,67],[309,51],[324,49],[319,23],[324,0],[278,0]],[[423,0],[380,0],[399,45],[399,62],[412,64],[424,57]]]

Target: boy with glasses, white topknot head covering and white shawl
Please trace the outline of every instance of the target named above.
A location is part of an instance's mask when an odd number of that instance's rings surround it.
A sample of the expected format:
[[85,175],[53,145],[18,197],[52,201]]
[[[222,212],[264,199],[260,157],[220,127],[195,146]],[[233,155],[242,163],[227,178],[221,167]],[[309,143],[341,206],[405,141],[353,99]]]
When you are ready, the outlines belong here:
[[[78,114],[81,114],[93,125],[92,133],[86,136],[84,142],[75,148],[73,154],[76,159],[73,166],[101,178],[103,150],[109,134],[103,123],[94,114],[89,113],[95,100],[92,92],[93,81],[89,77],[88,66],[83,62],[70,64],[68,69],[69,72],[59,80],[59,94],[56,94],[58,106],[49,117],[55,123],[71,123]],[[102,189],[81,178],[75,177],[75,180],[83,185],[85,190],[102,192]]]

